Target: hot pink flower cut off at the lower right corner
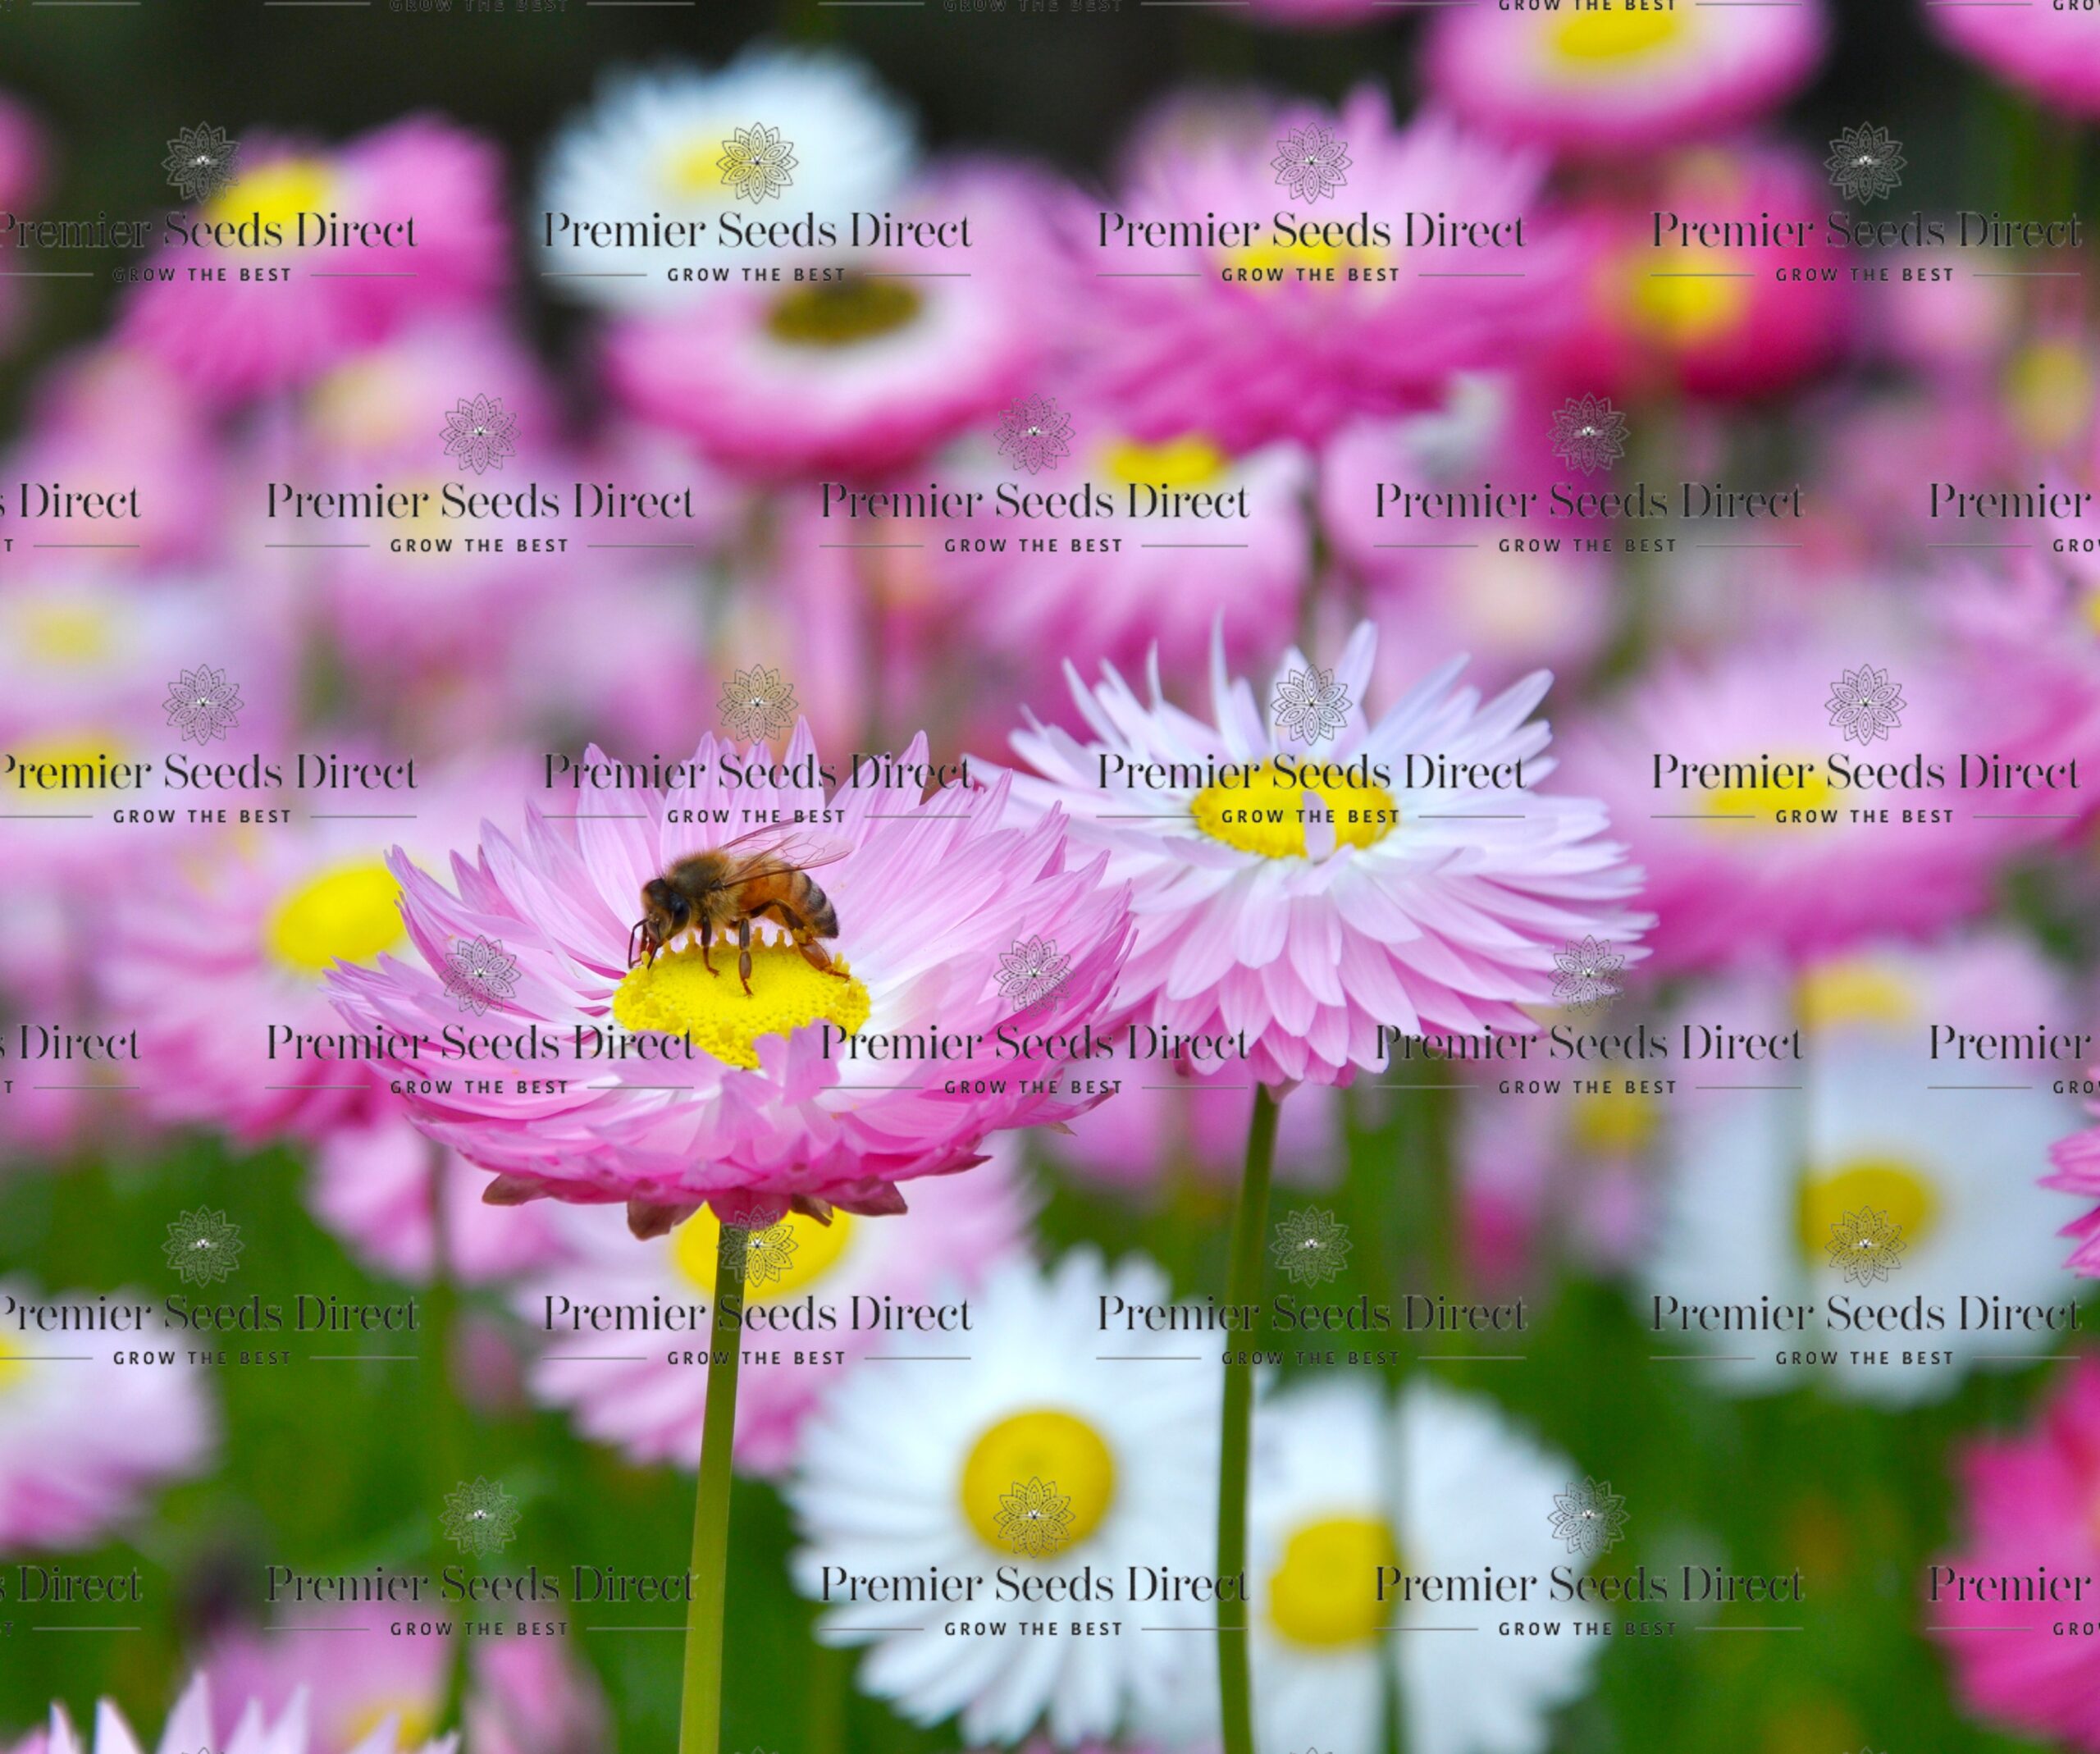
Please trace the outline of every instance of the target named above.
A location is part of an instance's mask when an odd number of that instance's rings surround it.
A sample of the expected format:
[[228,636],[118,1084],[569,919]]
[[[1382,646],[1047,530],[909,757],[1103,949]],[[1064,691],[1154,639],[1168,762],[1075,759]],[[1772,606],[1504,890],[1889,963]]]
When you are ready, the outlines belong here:
[[[1955,1460],[1966,1540],[1942,1557],[1968,1575],[2092,1573],[2100,1565],[2094,1498],[2100,1496],[2100,1361],[2081,1357],[2041,1416],[2008,1437],[1968,1441]],[[1932,1636],[1953,1668],[1966,1710],[2016,1735],[2100,1748],[2100,1657],[2083,1638],[2050,1632],[2048,1613],[2008,1632],[2006,1607],[1932,1603]],[[1993,1632],[1968,1628],[1995,1626]]]

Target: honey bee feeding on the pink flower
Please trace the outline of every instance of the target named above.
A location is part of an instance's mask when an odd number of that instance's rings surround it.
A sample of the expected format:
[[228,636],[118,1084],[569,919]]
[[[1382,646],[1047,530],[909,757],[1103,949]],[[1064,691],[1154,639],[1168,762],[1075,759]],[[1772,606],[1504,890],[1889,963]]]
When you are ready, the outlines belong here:
[[819,842],[790,826],[769,823],[706,853],[689,853],[664,876],[643,884],[643,916],[628,933],[628,966],[670,947],[678,933],[699,939],[699,960],[710,975],[714,935],[737,935],[737,975],[752,991],[752,922],[771,916],[802,952],[811,968],[846,979],[817,939],[838,937],[838,912],[808,876],[813,865],[844,859],[850,847]]

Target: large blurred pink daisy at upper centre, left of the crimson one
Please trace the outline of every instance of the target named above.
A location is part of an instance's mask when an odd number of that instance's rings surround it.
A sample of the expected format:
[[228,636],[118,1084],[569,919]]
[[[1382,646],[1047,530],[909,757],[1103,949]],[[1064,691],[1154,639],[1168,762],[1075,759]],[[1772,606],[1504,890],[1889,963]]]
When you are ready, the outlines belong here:
[[[1396,128],[1369,86],[1338,116],[1283,111],[1195,139],[1159,132],[1109,212],[1136,229],[1292,208],[1273,155],[1294,126],[1327,128],[1348,147],[1348,181],[1334,197],[1346,206],[1329,214],[1323,200],[1296,208],[1298,218],[1361,227],[1369,214],[1390,242],[1359,229],[1285,244],[1264,223],[1237,250],[1126,248],[1117,235],[1102,246],[1096,212],[1065,206],[1069,273],[1092,315],[1090,366],[1134,437],[1174,439],[1199,412],[1203,435],[1226,452],[1317,443],[1352,414],[1428,408],[1453,372],[1506,366],[1550,330],[1567,258],[1537,214],[1541,160],[1441,118]],[[1405,248],[1405,216],[1438,210],[1497,221],[1502,242]],[[1334,279],[1300,279],[1298,269],[1334,269]]]

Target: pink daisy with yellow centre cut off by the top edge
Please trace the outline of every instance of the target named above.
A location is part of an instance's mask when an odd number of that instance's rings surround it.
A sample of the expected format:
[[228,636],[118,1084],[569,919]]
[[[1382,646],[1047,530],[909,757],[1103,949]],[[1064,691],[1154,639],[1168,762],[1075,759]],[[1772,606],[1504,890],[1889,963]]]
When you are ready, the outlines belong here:
[[1712,139],[1785,103],[1823,59],[1821,0],[1438,13],[1430,90],[1468,122],[1577,158]]

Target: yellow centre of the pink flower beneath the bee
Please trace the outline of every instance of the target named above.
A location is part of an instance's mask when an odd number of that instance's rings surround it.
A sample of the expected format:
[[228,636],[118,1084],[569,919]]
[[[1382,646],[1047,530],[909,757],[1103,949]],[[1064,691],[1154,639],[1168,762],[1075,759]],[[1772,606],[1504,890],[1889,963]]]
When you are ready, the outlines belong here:
[[[712,956],[712,975],[699,945],[666,952],[653,964],[636,962],[613,994],[613,1017],[624,1029],[685,1036],[724,1065],[756,1071],[760,1036],[792,1036],[811,1023],[857,1036],[874,1008],[867,987],[850,975],[811,968],[794,945],[752,945],[748,994],[737,979],[735,943],[714,945]],[[846,968],[836,956],[832,966]]]

